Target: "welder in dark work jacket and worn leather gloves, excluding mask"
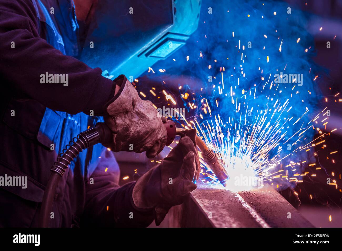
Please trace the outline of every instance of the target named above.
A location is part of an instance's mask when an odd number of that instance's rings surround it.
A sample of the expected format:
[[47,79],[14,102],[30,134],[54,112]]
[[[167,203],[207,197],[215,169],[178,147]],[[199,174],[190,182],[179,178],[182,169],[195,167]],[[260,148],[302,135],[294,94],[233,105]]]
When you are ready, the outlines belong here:
[[77,59],[98,1],[0,0],[0,176],[27,177],[26,189],[0,186],[1,227],[38,226],[57,154],[103,118],[112,141],[84,150],[66,169],[51,227],[144,227],[154,219],[159,224],[196,189],[199,162],[192,130],[137,182],[118,185],[112,151],[133,148],[152,158],[162,151],[167,134],[152,103],[138,96],[126,76],[112,81]]

